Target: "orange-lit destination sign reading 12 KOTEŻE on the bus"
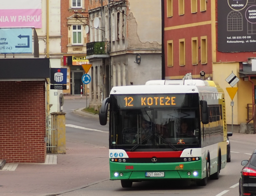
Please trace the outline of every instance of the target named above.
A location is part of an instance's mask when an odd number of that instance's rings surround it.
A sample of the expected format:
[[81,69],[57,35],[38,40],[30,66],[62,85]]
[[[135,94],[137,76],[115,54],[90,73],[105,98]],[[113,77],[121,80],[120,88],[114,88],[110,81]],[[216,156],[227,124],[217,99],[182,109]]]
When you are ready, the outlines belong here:
[[[191,107],[198,105],[198,94],[129,94],[114,95],[119,108]],[[190,106],[191,105],[191,106]]]

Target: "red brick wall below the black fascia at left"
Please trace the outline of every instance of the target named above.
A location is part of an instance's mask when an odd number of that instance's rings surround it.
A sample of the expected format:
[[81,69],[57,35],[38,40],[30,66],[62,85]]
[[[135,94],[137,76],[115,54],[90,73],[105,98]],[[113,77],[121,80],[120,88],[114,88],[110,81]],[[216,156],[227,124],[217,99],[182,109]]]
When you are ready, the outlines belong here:
[[45,81],[0,82],[0,159],[45,162]]

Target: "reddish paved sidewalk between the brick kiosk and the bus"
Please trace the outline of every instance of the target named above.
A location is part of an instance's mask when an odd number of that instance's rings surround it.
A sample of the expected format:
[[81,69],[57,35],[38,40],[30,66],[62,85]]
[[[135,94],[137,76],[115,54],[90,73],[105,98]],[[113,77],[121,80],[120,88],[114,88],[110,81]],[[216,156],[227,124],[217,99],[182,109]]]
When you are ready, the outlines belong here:
[[55,196],[109,180],[108,148],[67,141],[57,165],[21,164],[0,170],[1,196]]

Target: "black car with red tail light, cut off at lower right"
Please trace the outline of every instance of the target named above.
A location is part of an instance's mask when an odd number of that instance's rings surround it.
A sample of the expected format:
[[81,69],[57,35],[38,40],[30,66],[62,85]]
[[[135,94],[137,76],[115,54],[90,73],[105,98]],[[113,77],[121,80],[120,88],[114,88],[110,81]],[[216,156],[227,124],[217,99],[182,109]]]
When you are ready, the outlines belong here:
[[243,169],[239,180],[239,196],[256,196],[256,150],[249,160],[241,162]]

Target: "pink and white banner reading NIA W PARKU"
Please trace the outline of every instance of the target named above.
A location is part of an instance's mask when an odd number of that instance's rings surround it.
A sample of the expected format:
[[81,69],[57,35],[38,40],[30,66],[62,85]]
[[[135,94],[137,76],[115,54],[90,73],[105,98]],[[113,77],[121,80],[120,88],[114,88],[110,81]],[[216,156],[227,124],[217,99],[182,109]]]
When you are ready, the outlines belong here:
[[42,28],[41,0],[0,0],[0,27]]

